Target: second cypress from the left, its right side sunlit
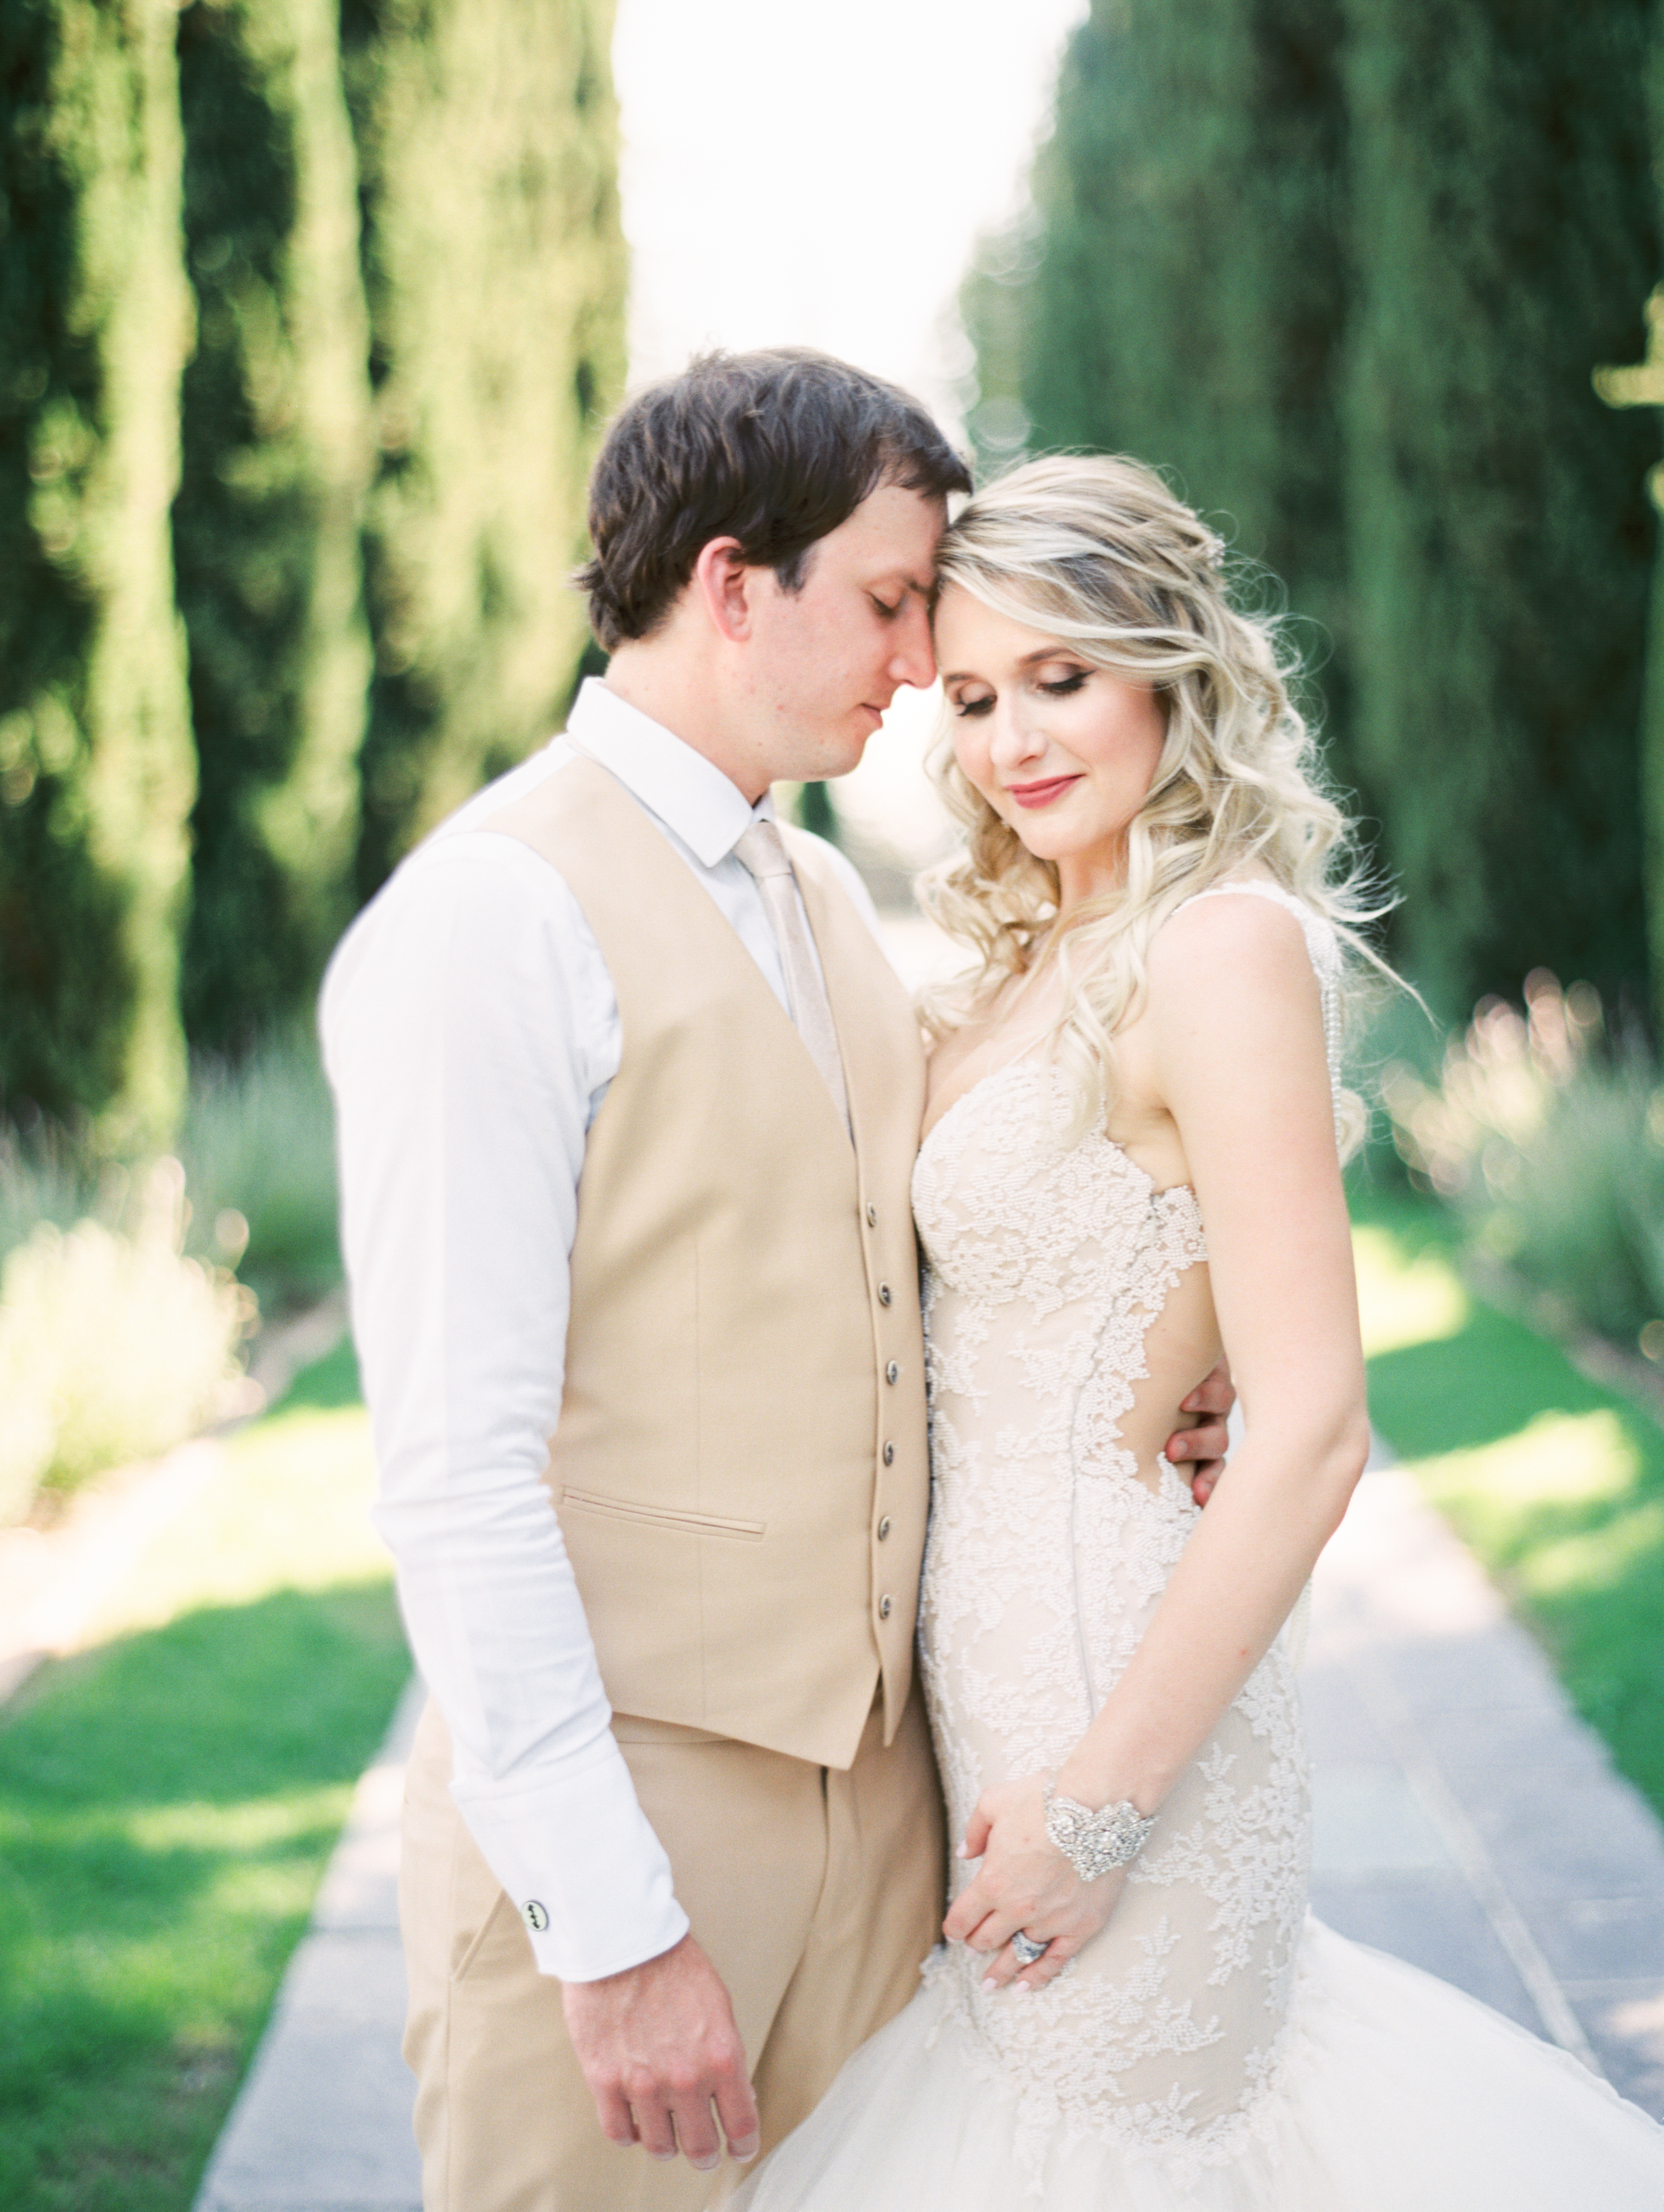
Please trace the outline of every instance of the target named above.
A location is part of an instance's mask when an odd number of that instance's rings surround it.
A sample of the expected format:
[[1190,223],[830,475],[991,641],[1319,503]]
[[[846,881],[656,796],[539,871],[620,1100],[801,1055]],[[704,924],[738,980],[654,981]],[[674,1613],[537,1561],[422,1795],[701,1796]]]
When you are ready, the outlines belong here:
[[184,1011],[235,1048],[352,914],[370,688],[370,325],[334,0],[179,18],[199,341],[175,504],[199,759]]

